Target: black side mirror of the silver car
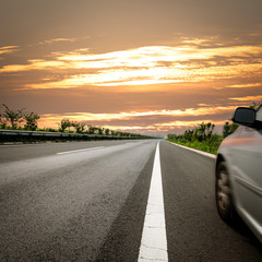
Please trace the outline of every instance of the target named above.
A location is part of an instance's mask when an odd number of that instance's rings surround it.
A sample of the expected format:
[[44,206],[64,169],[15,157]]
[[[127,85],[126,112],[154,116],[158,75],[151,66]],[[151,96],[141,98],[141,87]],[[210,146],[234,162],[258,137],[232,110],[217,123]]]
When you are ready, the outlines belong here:
[[249,107],[238,107],[234,114],[233,121],[247,127],[254,127],[257,111]]

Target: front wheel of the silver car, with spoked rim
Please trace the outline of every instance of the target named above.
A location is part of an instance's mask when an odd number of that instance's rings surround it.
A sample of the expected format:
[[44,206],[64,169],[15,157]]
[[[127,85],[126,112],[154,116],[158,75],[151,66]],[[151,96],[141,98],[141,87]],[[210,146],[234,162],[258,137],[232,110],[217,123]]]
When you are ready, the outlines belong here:
[[216,170],[216,206],[223,221],[231,223],[236,218],[229,175],[225,162],[221,162]]

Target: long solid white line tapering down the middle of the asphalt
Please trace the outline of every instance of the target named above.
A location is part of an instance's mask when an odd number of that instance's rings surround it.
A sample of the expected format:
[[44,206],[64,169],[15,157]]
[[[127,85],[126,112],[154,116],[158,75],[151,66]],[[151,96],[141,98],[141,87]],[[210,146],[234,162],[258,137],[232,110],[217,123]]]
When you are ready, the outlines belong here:
[[156,146],[139,262],[168,261],[159,142]]

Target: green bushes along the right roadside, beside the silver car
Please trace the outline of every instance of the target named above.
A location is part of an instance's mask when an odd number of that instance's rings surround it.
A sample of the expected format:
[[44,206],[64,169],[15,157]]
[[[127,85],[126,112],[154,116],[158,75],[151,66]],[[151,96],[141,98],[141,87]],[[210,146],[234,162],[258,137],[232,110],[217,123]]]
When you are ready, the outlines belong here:
[[204,151],[211,154],[216,154],[222,141],[234,133],[238,128],[236,123],[225,122],[223,134],[214,133],[215,124],[200,123],[193,130],[186,130],[183,134],[168,134],[167,141],[181,144],[195,150]]

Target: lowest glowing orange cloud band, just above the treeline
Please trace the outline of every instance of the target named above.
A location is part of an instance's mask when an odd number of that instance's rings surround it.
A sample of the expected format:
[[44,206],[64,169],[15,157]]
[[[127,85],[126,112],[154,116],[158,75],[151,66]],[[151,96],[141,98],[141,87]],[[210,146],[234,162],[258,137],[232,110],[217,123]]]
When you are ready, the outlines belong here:
[[[68,114],[48,114],[41,115],[39,120],[40,127],[58,127],[59,122],[63,118],[69,118],[72,121],[79,122],[104,122],[104,127],[110,127],[111,129],[121,129],[121,130],[139,130],[139,129],[170,129],[171,127],[184,128],[184,127],[193,127],[203,121],[203,117],[206,116],[218,116],[223,114],[231,114],[236,109],[236,106],[229,107],[200,107],[200,108],[187,108],[184,110],[151,110],[151,111],[131,111],[131,112],[117,112],[117,114],[92,114],[92,112],[68,112]],[[168,121],[165,123],[154,123],[154,126],[146,126],[146,118],[148,117],[199,117],[199,120],[190,121],[190,120],[179,120],[179,121]],[[145,119],[145,124],[143,127],[138,126],[123,126],[118,127],[110,124],[114,120],[135,120],[135,118],[143,117]],[[213,120],[204,120],[214,122]],[[223,121],[225,122],[225,121]],[[222,124],[222,122],[214,122],[215,124]]]

